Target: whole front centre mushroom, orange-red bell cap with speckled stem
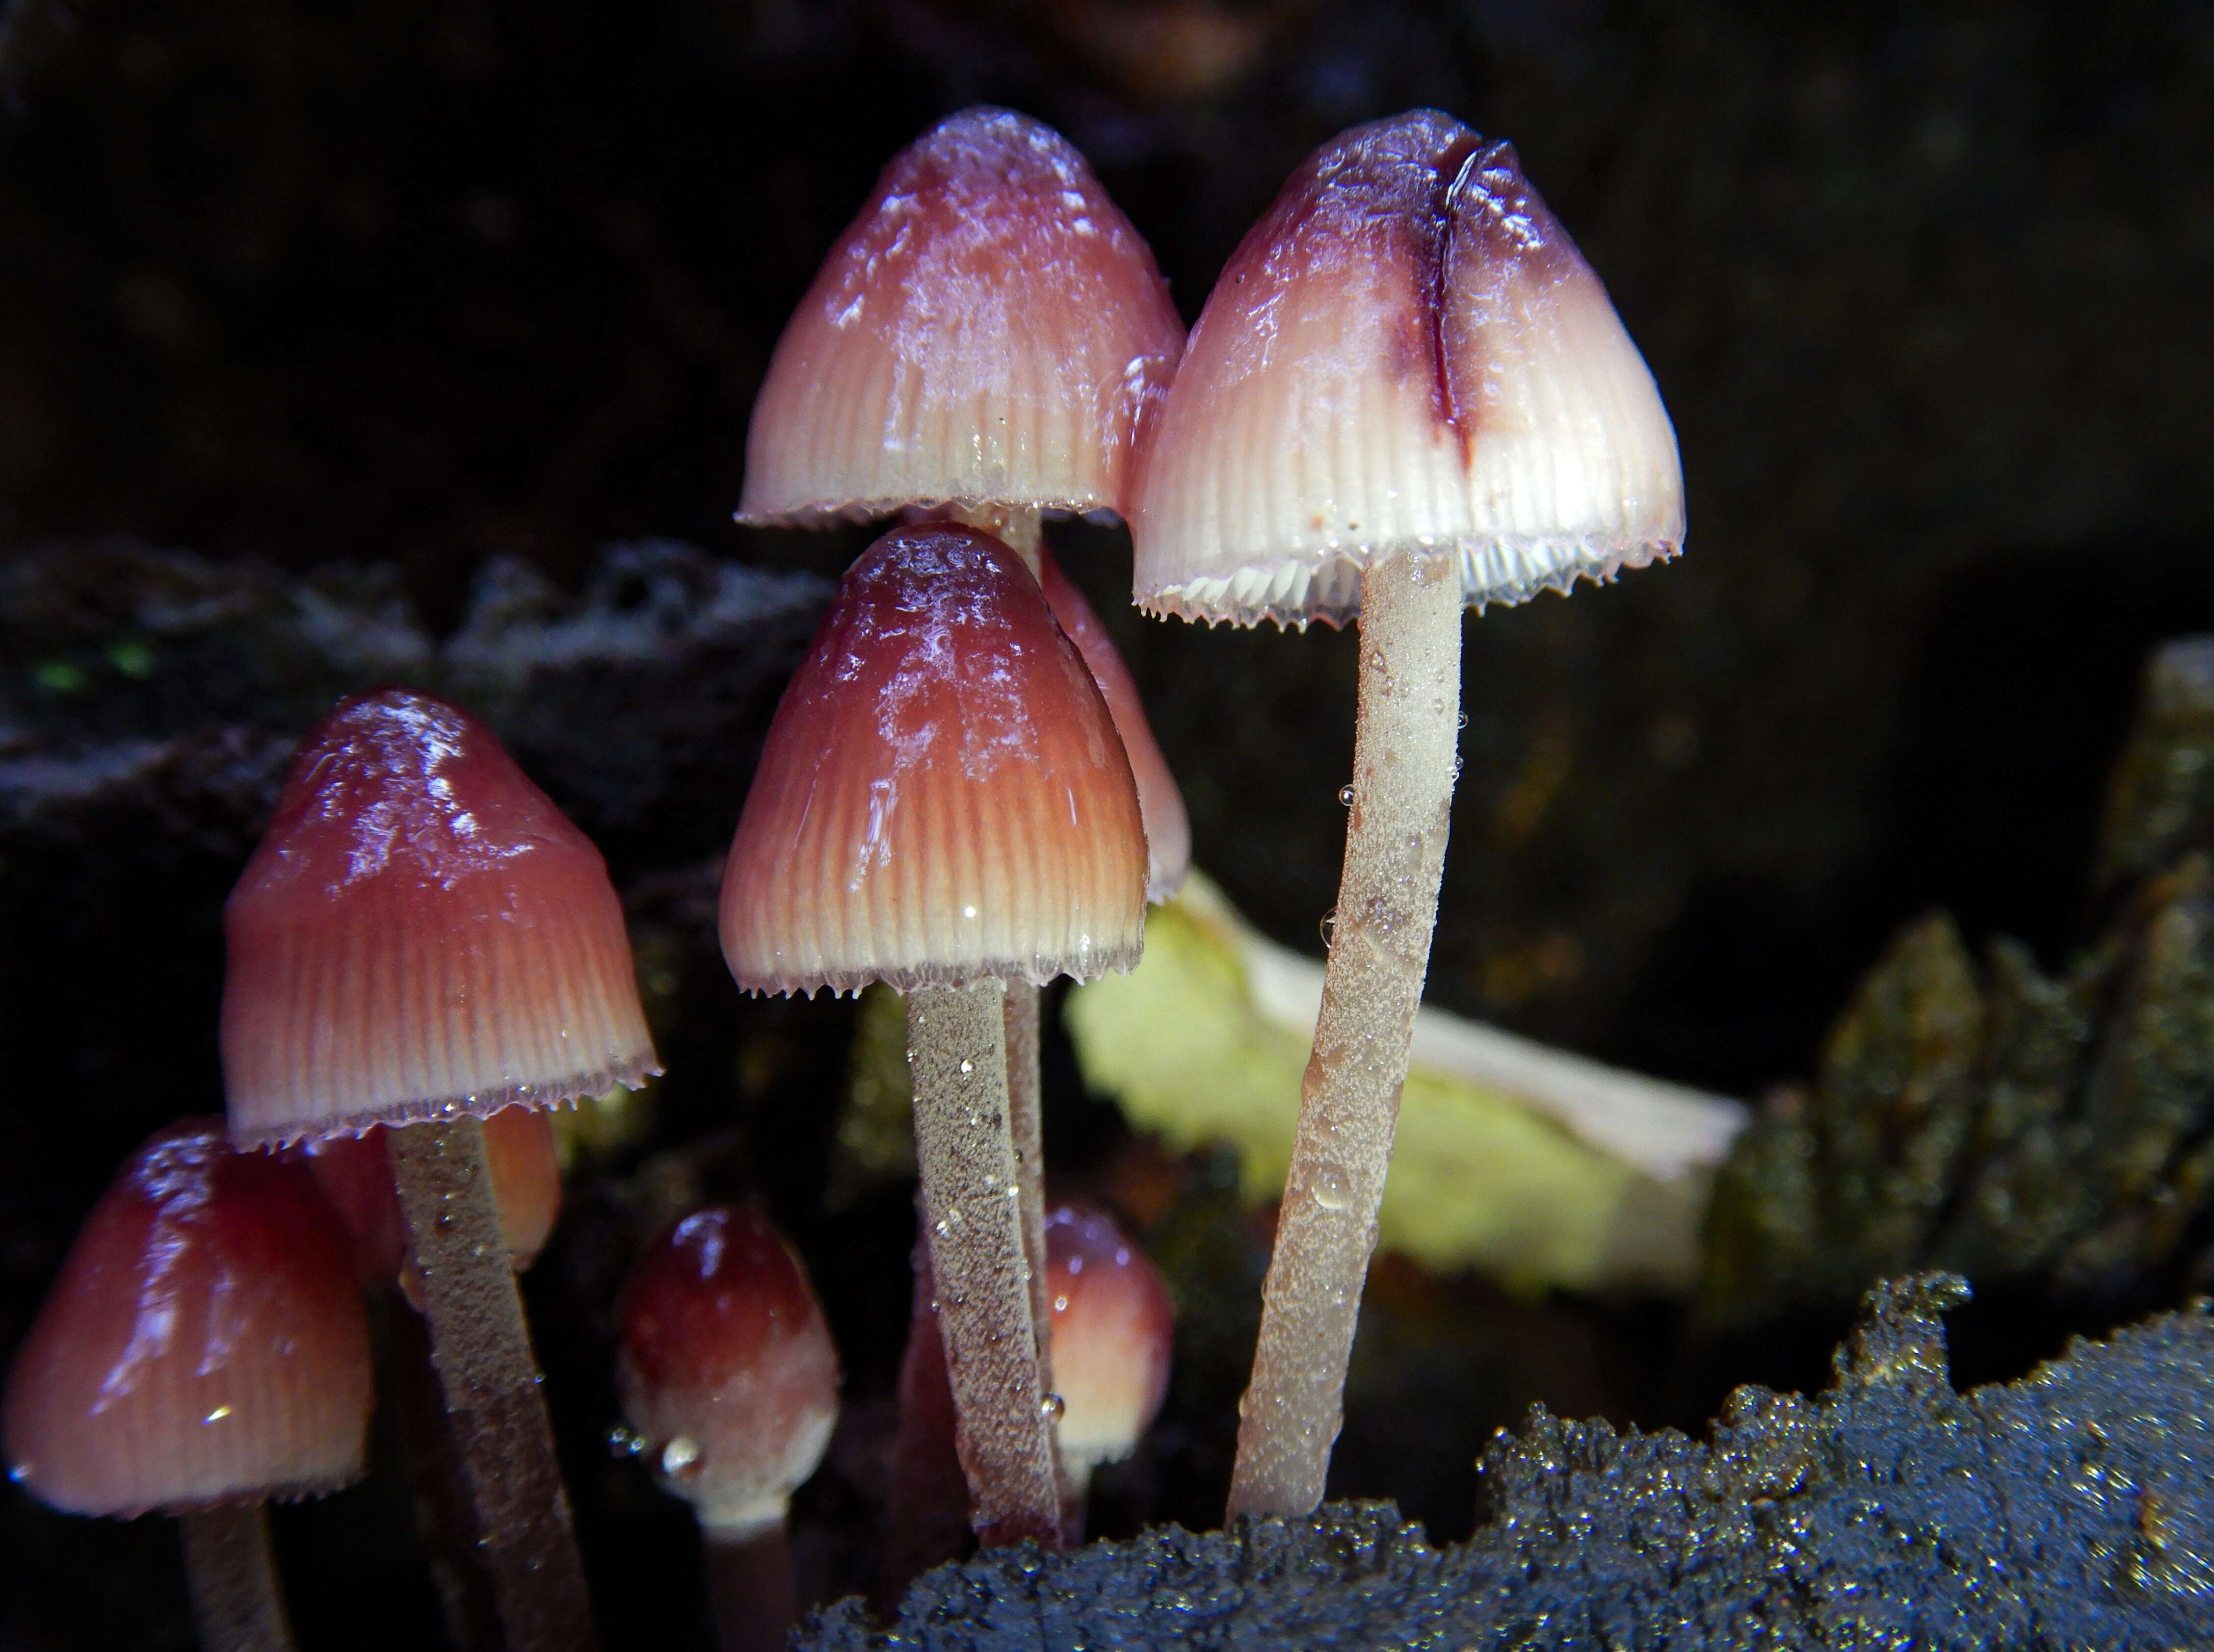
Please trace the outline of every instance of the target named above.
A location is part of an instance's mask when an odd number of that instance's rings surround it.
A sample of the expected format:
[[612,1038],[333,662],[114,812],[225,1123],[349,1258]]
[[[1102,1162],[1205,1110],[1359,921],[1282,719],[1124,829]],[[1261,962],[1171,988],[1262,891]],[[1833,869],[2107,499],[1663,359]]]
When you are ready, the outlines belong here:
[[1058,1541],[1001,983],[1127,970],[1142,915],[1129,760],[1036,580],[970,527],[886,534],[768,726],[722,950],[748,992],[908,997],[923,1214],[985,1541]]

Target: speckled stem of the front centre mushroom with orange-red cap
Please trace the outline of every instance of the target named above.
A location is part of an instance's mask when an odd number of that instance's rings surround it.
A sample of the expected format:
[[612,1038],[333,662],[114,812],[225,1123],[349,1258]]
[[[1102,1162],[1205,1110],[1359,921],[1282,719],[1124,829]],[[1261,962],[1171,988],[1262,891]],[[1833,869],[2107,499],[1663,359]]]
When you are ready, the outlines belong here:
[[914,1149],[972,1521],[985,1543],[1061,1546],[1061,1484],[1038,1382],[1007,1123],[999,981],[908,994]]

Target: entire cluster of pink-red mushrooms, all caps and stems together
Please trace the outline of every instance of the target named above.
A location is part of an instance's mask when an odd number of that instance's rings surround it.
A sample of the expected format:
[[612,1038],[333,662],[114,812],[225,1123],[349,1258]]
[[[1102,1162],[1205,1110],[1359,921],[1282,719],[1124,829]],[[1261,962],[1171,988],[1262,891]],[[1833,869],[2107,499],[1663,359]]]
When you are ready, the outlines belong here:
[[[1167,1388],[1171,1304],[1047,1209],[1038,988],[1127,970],[1191,833],[1129,669],[1047,545],[1111,512],[1153,613],[1357,618],[1344,886],[1231,1512],[1322,1493],[1428,963],[1466,607],[1683,543],[1652,376],[1514,151],[1417,111],[1317,151],[1184,330],[1038,122],[903,151],[770,361],[742,518],[897,518],[846,571],[737,813],[746,992],[906,997],[919,1163],[888,1588],[1083,1528]],[[208,1645],[283,1645],[261,1504],[361,1475],[361,1291],[434,1393],[418,1504],[514,1652],[596,1643],[516,1271],[560,1209],[547,1109],[660,1072],[600,853],[467,711],[385,689],[301,744],[226,908],[228,1121],[89,1218],[18,1357],[18,1481],[166,1510]],[[416,1318],[421,1315],[421,1318]],[[618,1307],[629,1437],[700,1517],[717,1634],[779,1645],[786,1508],[839,1404],[793,1247],[682,1216]],[[414,1338],[410,1342],[410,1338]],[[403,1431],[407,1433],[407,1431]],[[443,1466],[441,1466],[443,1464]],[[452,1559],[458,1557],[458,1559]],[[463,1636],[465,1639],[465,1636]]]

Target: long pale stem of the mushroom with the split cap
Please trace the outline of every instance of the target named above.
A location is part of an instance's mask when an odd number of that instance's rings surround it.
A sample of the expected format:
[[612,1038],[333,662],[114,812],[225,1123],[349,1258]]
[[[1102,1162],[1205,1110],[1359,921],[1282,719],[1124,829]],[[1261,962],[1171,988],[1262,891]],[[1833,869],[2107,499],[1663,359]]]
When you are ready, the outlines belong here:
[[1231,1519],[1322,1501],[1446,866],[1461,717],[1455,558],[1401,554],[1368,567],[1359,629],[1353,819],[1240,1402]]

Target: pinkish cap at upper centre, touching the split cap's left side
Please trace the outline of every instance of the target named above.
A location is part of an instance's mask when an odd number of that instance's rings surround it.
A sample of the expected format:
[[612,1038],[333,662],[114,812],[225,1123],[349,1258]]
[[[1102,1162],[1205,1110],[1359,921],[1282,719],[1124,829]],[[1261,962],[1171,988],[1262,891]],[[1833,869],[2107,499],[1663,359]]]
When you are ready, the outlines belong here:
[[968,109],[883,168],[786,326],[739,516],[1122,509],[1182,341],[1085,157],[1027,115]]

